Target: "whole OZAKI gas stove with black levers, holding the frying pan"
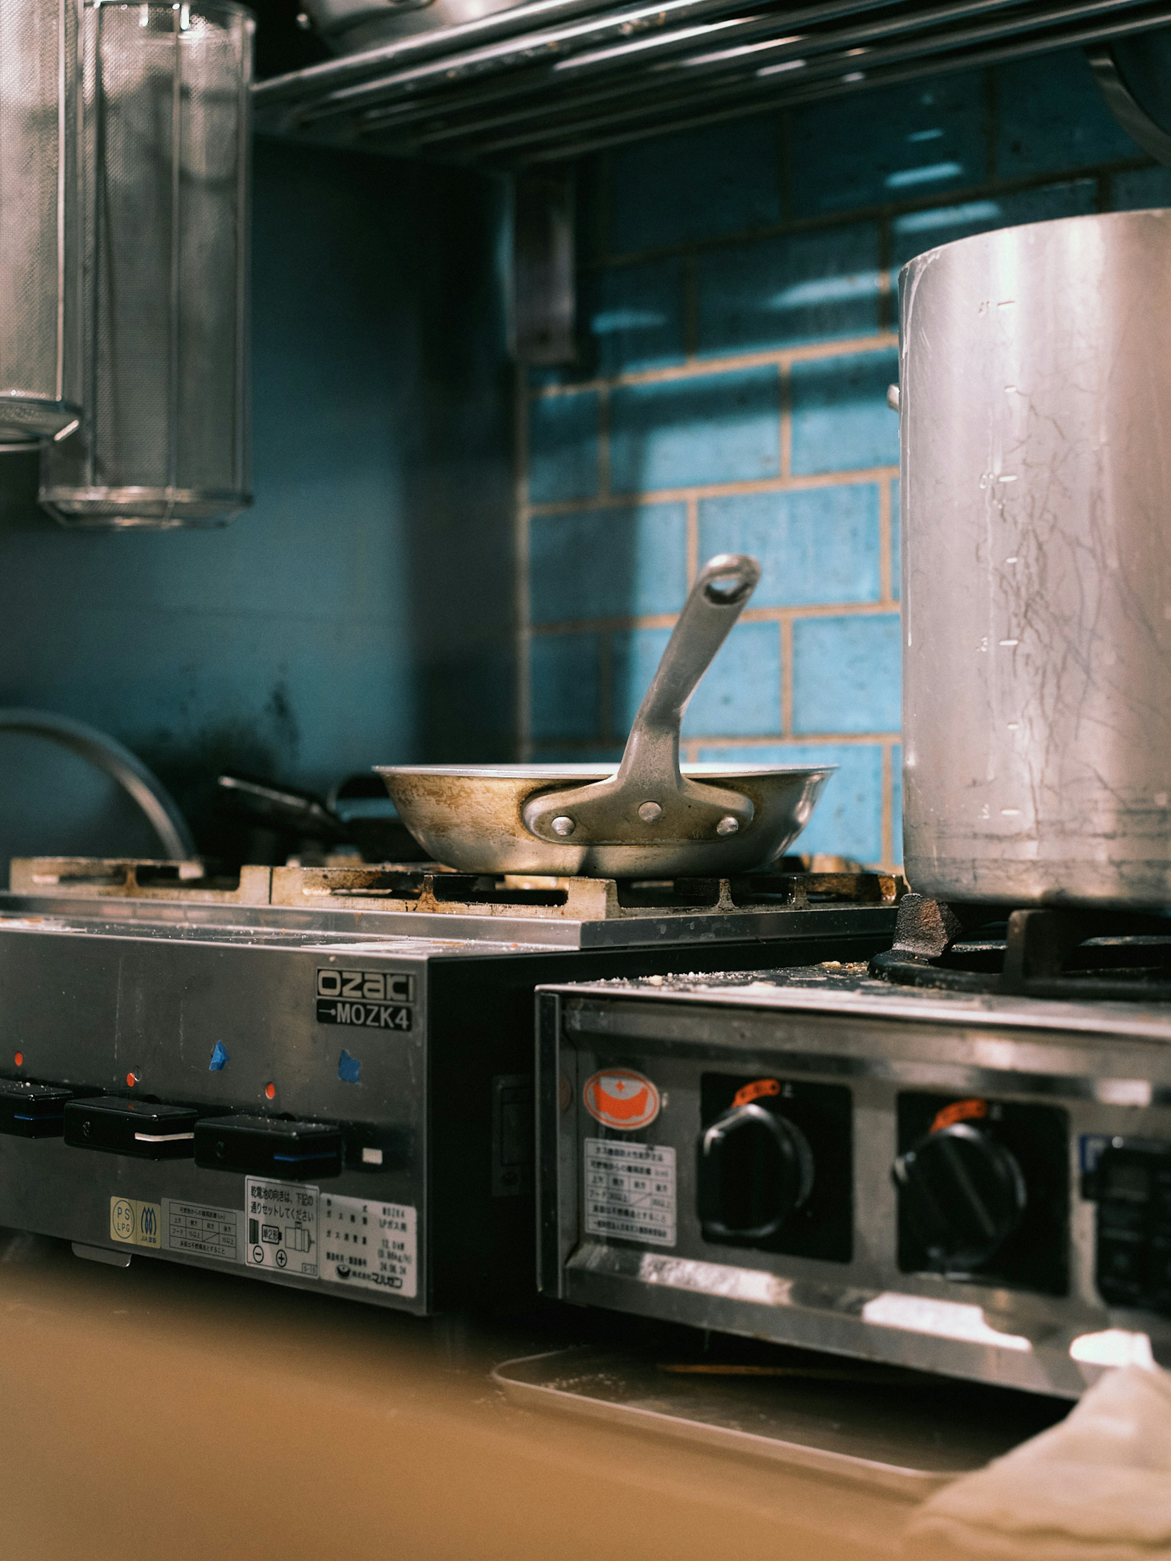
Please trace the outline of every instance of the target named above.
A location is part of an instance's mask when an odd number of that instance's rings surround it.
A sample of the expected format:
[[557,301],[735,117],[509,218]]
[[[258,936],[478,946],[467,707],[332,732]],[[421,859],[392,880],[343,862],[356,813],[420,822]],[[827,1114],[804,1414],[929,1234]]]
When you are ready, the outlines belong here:
[[896,894],[881,874],[17,860],[0,1218],[119,1266],[414,1313],[525,1302],[537,983],[867,958]]

